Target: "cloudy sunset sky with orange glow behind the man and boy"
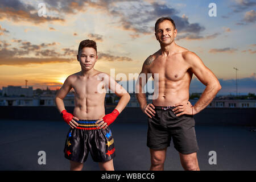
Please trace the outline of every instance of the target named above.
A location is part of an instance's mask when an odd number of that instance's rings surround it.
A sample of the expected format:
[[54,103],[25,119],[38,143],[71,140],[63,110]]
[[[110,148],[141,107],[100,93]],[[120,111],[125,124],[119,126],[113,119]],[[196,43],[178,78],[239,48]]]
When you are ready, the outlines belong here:
[[[195,3],[196,2],[196,3]],[[217,5],[210,17],[209,3]],[[46,16],[39,16],[39,3]],[[97,42],[96,69],[110,74],[139,73],[144,60],[158,51],[155,21],[170,16],[176,43],[195,52],[220,80],[220,93],[256,92],[256,2],[227,1],[0,1],[0,88],[7,85],[51,89],[79,72],[81,40]],[[195,80],[194,80],[195,79]],[[192,92],[203,84],[192,80]]]

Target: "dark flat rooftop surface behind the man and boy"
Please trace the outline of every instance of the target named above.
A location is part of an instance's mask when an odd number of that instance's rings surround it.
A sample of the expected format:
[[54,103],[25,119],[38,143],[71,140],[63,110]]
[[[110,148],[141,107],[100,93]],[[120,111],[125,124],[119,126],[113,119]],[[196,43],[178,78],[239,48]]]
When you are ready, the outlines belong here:
[[[146,146],[147,123],[115,122],[110,125],[118,171],[150,168]],[[63,148],[69,126],[61,121],[0,120],[0,170],[69,170]],[[201,170],[256,170],[256,132],[250,127],[196,125]],[[38,152],[46,152],[46,164],[38,164]],[[217,164],[210,165],[209,152],[217,152]],[[92,158],[83,170],[99,170]],[[183,170],[173,143],[167,149],[164,170]]]

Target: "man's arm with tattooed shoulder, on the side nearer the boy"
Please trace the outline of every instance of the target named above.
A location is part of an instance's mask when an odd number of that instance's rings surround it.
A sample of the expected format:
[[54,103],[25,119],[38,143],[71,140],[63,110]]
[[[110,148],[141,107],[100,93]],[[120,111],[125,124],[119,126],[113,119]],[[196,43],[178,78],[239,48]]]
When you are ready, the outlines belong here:
[[147,73],[150,73],[149,67],[154,61],[154,56],[148,56],[144,61],[142,66],[142,71],[139,73],[138,80],[135,85],[135,93],[141,110],[143,113],[147,114],[148,117],[152,118],[151,115],[155,114],[155,107],[152,104],[147,104],[146,93],[144,91],[144,86],[147,84],[148,77]]

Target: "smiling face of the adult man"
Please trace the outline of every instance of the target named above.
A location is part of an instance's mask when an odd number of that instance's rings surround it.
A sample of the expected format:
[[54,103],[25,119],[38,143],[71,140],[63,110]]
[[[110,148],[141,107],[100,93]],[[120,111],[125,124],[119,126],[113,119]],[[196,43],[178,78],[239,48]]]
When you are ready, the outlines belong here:
[[174,42],[176,35],[177,30],[174,30],[174,25],[169,20],[164,20],[163,22],[159,23],[155,32],[156,40],[165,46]]

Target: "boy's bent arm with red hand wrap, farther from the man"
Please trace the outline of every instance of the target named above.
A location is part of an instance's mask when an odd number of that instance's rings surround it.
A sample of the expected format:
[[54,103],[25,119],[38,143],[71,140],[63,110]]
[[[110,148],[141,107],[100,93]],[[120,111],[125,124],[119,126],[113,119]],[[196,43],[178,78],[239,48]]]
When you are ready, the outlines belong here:
[[76,127],[78,126],[78,123],[75,122],[74,119],[79,121],[78,118],[74,117],[73,114],[68,113],[67,110],[65,110],[64,102],[63,99],[65,96],[67,96],[68,92],[72,89],[71,86],[71,77],[69,76],[63,86],[61,86],[60,90],[57,92],[56,97],[55,97],[55,104],[57,106],[57,109],[59,110],[59,113],[61,113],[61,116],[63,117],[64,121],[68,123],[69,126]]

